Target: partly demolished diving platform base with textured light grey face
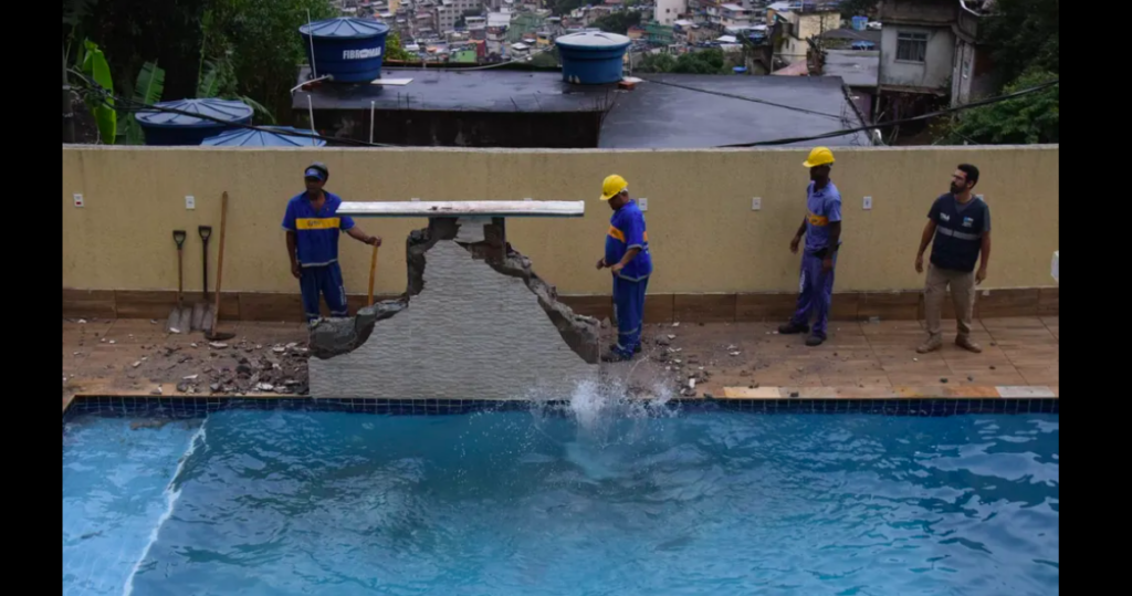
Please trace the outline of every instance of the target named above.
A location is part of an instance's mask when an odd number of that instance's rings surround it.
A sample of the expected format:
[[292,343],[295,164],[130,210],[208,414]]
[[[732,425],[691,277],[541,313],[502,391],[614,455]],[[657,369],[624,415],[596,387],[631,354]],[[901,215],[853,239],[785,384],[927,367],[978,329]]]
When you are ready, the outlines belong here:
[[311,331],[315,398],[560,399],[597,377],[598,322],[557,301],[501,219],[434,218],[406,253],[405,296]]

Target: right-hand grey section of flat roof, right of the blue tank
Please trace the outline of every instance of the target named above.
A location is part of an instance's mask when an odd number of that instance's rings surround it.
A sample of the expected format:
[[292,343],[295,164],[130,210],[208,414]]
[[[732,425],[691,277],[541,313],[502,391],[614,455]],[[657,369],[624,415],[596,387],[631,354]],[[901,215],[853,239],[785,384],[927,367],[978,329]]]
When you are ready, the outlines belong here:
[[[704,148],[821,135],[861,126],[838,77],[644,75],[635,91],[618,93],[601,127],[601,148]],[[672,83],[790,105],[817,113],[752,103]],[[824,114],[824,116],[823,116]],[[863,134],[823,141],[868,145]]]

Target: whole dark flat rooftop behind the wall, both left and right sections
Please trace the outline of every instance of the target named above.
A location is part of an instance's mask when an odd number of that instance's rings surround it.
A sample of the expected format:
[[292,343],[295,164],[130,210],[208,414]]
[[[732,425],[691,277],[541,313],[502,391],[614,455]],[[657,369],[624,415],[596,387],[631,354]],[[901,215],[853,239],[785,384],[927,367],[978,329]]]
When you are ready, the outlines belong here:
[[[369,110],[370,102],[379,110],[608,110],[600,131],[602,148],[706,148],[861,126],[841,78],[833,76],[643,75],[645,80],[629,92],[616,85],[571,85],[557,71],[387,68],[385,77],[412,82],[404,86],[328,84],[297,92],[293,108],[307,110],[309,95],[316,110]],[[868,138],[856,135],[824,143],[867,145]]]

